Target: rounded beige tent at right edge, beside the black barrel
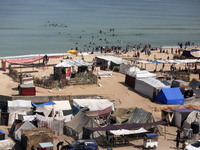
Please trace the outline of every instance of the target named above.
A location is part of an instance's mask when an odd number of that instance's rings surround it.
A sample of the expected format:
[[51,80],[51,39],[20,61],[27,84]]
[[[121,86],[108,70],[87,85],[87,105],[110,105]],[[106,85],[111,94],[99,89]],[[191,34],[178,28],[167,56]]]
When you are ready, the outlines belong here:
[[192,122],[198,122],[200,124],[200,111],[192,111],[190,114],[187,116],[187,119],[184,121],[182,128],[191,128],[191,123]]

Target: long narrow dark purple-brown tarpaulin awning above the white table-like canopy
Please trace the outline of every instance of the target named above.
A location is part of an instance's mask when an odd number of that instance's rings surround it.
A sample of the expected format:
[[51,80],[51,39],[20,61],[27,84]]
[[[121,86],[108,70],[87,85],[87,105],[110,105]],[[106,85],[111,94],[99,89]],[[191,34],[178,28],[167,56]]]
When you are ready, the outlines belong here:
[[106,127],[99,127],[99,128],[92,128],[92,127],[84,127],[90,131],[109,131],[109,130],[120,130],[120,129],[138,129],[145,126],[156,126],[156,125],[163,125],[168,124],[165,121],[158,121],[152,123],[131,123],[131,124],[120,124],[120,125],[108,125]]

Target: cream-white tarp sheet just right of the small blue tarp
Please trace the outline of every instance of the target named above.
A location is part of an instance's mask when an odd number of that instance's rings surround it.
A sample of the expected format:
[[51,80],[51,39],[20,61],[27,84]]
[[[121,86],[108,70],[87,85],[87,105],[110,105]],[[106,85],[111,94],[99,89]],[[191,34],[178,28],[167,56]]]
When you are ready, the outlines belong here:
[[56,112],[58,112],[58,116],[64,116],[63,110],[71,110],[71,105],[68,100],[62,101],[53,101],[55,104],[53,105],[53,115],[55,116]]

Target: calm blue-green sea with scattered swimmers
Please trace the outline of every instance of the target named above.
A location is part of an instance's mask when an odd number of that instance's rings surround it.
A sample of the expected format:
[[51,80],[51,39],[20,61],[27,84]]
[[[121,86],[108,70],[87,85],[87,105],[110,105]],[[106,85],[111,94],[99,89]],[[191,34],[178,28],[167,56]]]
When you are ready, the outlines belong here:
[[197,45],[199,6],[200,0],[0,0],[0,57]]

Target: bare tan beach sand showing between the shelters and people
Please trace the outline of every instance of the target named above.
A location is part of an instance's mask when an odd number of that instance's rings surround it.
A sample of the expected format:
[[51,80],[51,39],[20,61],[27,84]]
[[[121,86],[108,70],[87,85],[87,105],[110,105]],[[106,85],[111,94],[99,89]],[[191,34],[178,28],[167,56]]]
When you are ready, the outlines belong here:
[[[154,55],[156,55],[156,58],[160,58],[162,60],[173,59],[173,54],[163,54],[157,51],[151,51],[151,55],[145,55],[145,53],[141,53],[140,58],[142,60],[154,60]],[[170,52],[170,49],[169,49]],[[126,54],[122,54],[120,57],[133,57],[135,52],[127,52]],[[107,55],[114,55],[112,53],[107,54],[101,54],[101,53],[95,53],[90,55],[84,55],[84,60],[91,62],[95,56],[107,56]],[[73,59],[81,59],[81,55],[79,56],[72,56]],[[57,59],[50,59],[48,64],[58,64],[60,63],[62,58]],[[37,62],[35,62],[37,63]],[[140,65],[140,64],[138,64]],[[13,65],[14,67],[15,65]],[[181,67],[184,67],[183,65]],[[158,64],[157,70],[161,69],[162,65]],[[200,67],[197,66],[199,69]],[[148,71],[153,71],[155,69],[155,64],[147,64],[146,69]],[[194,68],[191,68],[194,69]],[[38,68],[21,68],[17,69],[19,72],[31,74],[35,77],[43,77],[45,75],[49,76],[49,74],[53,73],[53,67],[38,67]],[[165,70],[170,70],[170,64],[167,64],[165,66]],[[0,82],[3,88],[1,88],[1,95],[8,95],[8,96],[15,96],[18,94],[18,82],[14,81],[9,76],[9,70],[7,71],[0,71]],[[94,71],[94,74],[97,74],[97,71]],[[198,74],[191,74],[190,79],[197,79],[198,80]],[[99,86],[102,85],[102,86]],[[113,77],[111,78],[101,78],[98,79],[98,84],[96,85],[76,85],[76,86],[66,86],[64,89],[46,89],[42,87],[36,87],[36,96],[45,96],[45,95],[84,95],[84,94],[97,94],[101,95],[104,98],[108,98],[109,100],[115,101],[115,107],[116,108],[127,108],[127,107],[139,107],[143,108],[149,112],[151,112],[156,120],[161,119],[161,109],[163,108],[181,108],[181,107],[187,107],[184,105],[164,105],[157,102],[151,102],[150,99],[145,97],[144,95],[138,94],[133,90],[133,88],[127,86],[125,84],[125,75],[113,72]],[[195,108],[199,108],[200,106],[195,106]],[[163,127],[164,128],[164,127]],[[3,129],[6,131],[8,127],[0,127],[0,129]],[[159,137],[159,150],[168,150],[168,149],[174,149],[175,147],[175,136],[176,136],[176,127],[167,127],[167,137],[165,139],[164,136]],[[7,132],[6,132],[7,133]],[[55,143],[57,141],[60,141],[62,139],[66,138],[66,136],[56,137]],[[142,146],[142,140],[139,141],[133,140],[132,146],[128,147],[120,147],[120,148],[114,148],[114,149],[139,149]]]

